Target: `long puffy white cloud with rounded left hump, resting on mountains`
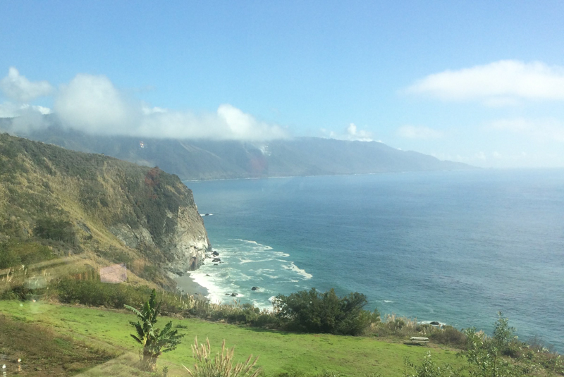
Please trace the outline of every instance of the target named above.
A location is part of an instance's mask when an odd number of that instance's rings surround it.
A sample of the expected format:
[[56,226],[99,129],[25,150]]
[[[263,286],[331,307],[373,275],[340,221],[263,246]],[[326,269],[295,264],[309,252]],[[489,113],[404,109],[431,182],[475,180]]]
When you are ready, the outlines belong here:
[[253,141],[287,137],[278,125],[230,104],[199,115],[147,106],[126,97],[105,76],[77,75],[61,87],[54,111],[66,127],[94,134]]

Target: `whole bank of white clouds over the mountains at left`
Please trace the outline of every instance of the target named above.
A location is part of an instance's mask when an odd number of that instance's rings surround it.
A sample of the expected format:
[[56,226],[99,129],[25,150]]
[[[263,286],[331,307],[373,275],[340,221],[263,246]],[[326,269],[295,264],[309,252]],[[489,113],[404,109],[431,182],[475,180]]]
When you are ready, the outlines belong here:
[[[63,127],[95,135],[248,141],[288,137],[280,126],[257,120],[231,104],[221,104],[214,113],[200,114],[147,106],[126,95],[104,75],[78,74],[54,91],[48,82],[30,82],[16,68],[10,68],[1,85],[7,97],[18,101],[54,93],[53,110]],[[51,112],[42,106],[0,104],[0,116],[18,116],[22,118],[19,123],[30,124],[27,128],[44,126],[37,123],[37,117],[27,116],[30,111]]]

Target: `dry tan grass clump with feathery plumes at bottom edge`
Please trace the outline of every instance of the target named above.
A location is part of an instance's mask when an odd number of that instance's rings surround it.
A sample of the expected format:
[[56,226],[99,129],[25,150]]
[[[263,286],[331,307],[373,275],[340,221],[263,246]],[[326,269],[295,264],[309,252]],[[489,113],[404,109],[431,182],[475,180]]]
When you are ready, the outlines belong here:
[[252,354],[250,354],[244,363],[233,364],[234,352],[235,347],[226,350],[225,339],[223,339],[221,354],[217,352],[212,359],[212,346],[209,345],[209,339],[206,338],[205,345],[198,346],[198,338],[196,337],[194,345],[192,345],[192,354],[196,359],[194,371],[190,371],[186,366],[183,366],[193,377],[257,377],[261,369],[253,369],[259,357],[252,361]]

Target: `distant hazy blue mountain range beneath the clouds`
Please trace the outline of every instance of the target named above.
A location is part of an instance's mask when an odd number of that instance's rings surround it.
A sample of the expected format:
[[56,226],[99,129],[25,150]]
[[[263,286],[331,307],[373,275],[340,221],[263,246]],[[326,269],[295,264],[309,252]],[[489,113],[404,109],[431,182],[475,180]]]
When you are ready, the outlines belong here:
[[182,180],[266,178],[469,169],[464,163],[406,152],[381,142],[296,137],[269,142],[172,140],[88,135],[65,129],[50,116],[49,127],[17,132],[11,118],[0,130],[79,152],[98,153],[146,166],[159,166]]

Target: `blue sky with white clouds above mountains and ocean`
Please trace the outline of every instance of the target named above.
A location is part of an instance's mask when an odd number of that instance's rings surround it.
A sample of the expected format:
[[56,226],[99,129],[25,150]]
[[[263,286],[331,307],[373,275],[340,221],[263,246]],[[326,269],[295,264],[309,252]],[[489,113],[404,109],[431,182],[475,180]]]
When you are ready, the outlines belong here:
[[564,167],[564,1],[161,3],[0,2],[0,117]]

